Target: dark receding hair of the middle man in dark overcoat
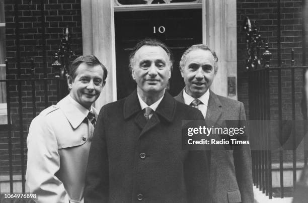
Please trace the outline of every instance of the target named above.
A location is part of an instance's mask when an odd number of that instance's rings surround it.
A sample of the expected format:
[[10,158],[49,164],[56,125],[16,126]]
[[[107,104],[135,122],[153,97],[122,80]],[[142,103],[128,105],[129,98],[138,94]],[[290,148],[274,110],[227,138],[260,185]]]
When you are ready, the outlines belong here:
[[164,44],[163,42],[161,42],[158,39],[144,39],[140,42],[138,42],[136,44],[136,46],[132,49],[132,52],[129,54],[129,71],[132,71],[132,66],[134,63],[134,56],[136,54],[136,52],[142,47],[142,46],[153,46],[153,47],[162,47],[167,55],[169,56],[169,62],[170,62],[170,68],[172,71],[172,65],[173,65],[173,54],[171,52],[171,50],[169,49],[169,47],[167,47],[166,44]]

